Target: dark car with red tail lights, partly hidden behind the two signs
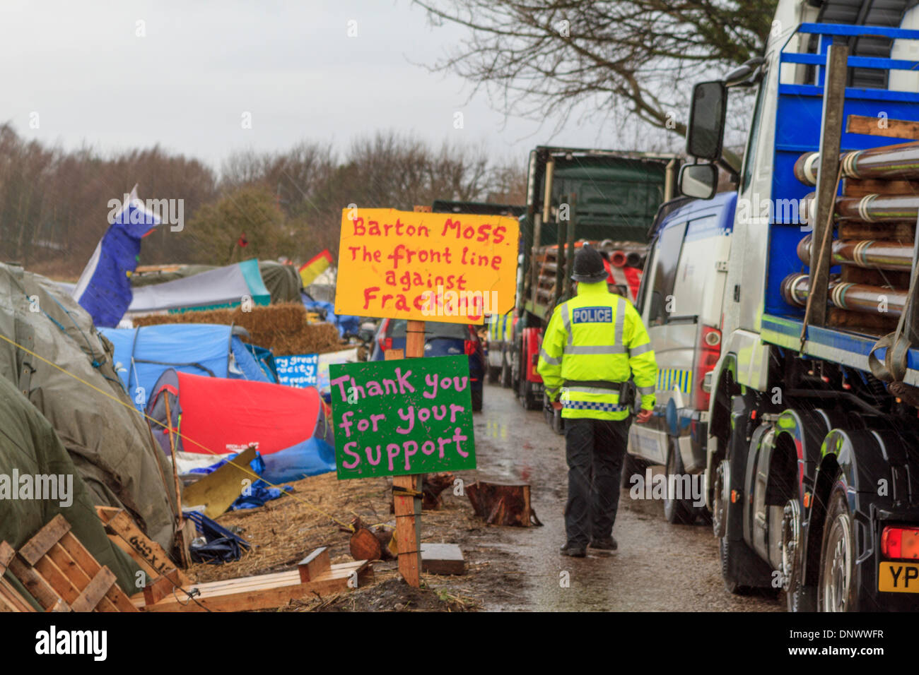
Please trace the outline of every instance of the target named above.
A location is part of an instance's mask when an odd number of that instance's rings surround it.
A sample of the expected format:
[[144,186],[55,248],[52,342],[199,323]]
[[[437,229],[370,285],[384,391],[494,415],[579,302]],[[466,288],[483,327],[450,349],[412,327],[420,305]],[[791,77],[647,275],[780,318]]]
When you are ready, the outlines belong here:
[[[370,361],[382,361],[391,349],[405,349],[404,319],[384,319],[373,340]],[[485,352],[476,327],[468,323],[425,321],[425,356],[469,354],[469,377],[472,410],[482,410],[482,387],[485,374]]]

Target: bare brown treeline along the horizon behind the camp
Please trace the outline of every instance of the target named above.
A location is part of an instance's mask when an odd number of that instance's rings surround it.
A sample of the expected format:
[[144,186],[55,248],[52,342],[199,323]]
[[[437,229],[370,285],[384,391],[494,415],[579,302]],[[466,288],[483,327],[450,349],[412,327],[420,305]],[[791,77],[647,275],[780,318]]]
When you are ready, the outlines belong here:
[[[0,259],[51,276],[79,275],[108,228],[109,201],[181,199],[183,227],[144,239],[141,264],[228,264],[337,253],[341,209],[411,209],[435,199],[524,201],[526,161],[481,147],[432,146],[377,132],[345,152],[306,141],[286,152],[236,152],[220,174],[158,146],[104,154],[27,141],[0,126]],[[173,211],[176,214],[176,209]]]

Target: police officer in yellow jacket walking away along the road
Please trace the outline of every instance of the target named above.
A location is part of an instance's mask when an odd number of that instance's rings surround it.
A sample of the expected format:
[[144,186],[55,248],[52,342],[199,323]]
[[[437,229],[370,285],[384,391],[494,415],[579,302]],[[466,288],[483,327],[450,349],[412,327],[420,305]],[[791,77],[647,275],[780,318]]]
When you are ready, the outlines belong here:
[[615,551],[630,410],[619,392],[630,377],[641,396],[636,422],[651,419],[657,364],[648,332],[629,300],[609,292],[600,253],[584,244],[574,256],[576,297],[559,305],[542,339],[539,375],[562,403],[568,461],[567,541],[562,554]]

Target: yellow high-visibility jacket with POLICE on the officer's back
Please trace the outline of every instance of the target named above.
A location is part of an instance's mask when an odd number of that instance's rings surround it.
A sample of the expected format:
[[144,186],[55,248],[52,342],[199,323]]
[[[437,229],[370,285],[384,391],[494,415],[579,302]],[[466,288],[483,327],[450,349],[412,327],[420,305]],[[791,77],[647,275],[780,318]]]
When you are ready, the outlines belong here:
[[555,308],[537,370],[550,399],[561,391],[562,417],[626,419],[618,388],[629,377],[641,409],[654,407],[657,363],[648,331],[630,301],[610,293],[606,281],[579,283],[577,297]]

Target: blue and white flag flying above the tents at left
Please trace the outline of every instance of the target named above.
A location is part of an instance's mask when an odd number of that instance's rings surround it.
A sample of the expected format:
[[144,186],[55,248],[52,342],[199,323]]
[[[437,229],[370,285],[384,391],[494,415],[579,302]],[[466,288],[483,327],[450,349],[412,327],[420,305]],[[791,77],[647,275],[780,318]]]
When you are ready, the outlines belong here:
[[160,224],[153,211],[137,197],[137,186],[108,203],[108,231],[96,245],[76,283],[73,297],[93,316],[96,326],[115,327],[121,321],[133,297],[130,276],[137,269],[141,239]]

